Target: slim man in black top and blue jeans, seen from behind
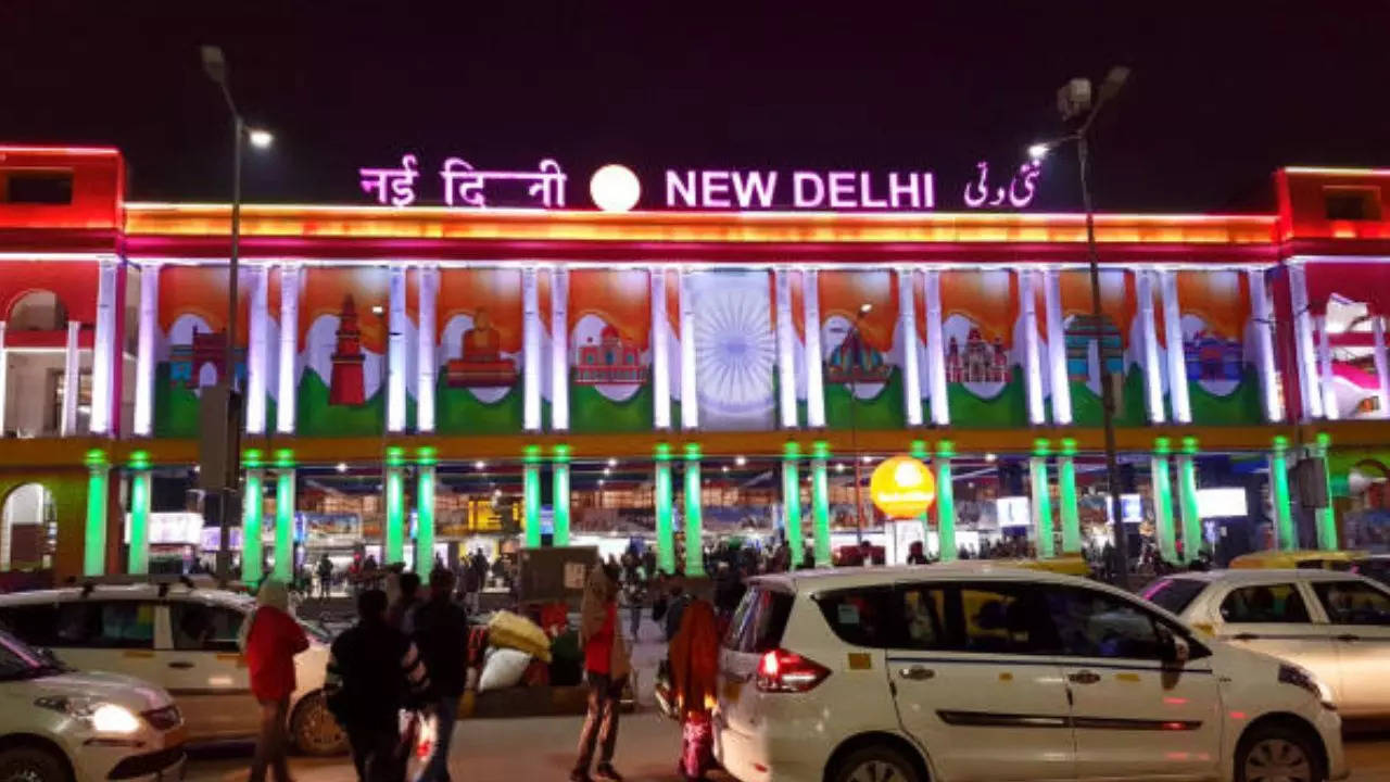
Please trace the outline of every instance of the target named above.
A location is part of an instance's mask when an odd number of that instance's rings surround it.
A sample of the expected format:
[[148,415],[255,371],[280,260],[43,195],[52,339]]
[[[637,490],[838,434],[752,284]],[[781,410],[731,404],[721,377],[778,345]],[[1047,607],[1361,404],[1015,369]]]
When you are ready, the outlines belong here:
[[453,584],[452,572],[431,570],[430,600],[411,618],[411,640],[430,676],[430,701],[438,721],[434,753],[416,782],[449,782],[449,740],[468,665],[468,615],[453,603]]

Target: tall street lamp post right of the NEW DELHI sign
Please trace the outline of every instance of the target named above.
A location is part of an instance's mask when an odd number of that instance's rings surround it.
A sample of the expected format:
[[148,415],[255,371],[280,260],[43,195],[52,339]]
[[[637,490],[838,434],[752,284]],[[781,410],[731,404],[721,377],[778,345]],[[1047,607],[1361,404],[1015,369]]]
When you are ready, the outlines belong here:
[[1101,109],[1112,100],[1129,79],[1129,68],[1116,65],[1105,74],[1101,82],[1101,93],[1091,103],[1090,79],[1072,79],[1058,90],[1058,111],[1065,122],[1079,122],[1076,131],[1059,139],[1034,143],[1029,147],[1029,154],[1034,160],[1041,160],[1048,152],[1069,141],[1076,142],[1076,159],[1080,167],[1081,179],[1081,209],[1086,212],[1086,249],[1087,269],[1091,278],[1091,328],[1095,338],[1095,349],[1101,365],[1101,420],[1105,433],[1105,476],[1109,484],[1109,518],[1115,525],[1115,562],[1112,569],[1116,584],[1129,587],[1129,533],[1125,529],[1125,519],[1120,516],[1120,484],[1119,463],[1115,455],[1115,387],[1111,372],[1105,362],[1105,335],[1101,328],[1101,262],[1095,245],[1095,206],[1091,203],[1090,186],[1090,131]]

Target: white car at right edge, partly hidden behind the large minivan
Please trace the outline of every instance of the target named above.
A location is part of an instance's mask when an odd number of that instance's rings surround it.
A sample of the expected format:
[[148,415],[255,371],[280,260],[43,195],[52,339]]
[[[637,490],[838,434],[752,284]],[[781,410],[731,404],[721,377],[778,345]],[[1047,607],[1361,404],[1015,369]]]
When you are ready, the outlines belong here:
[[1390,717],[1390,589],[1334,570],[1211,570],[1144,597],[1223,641],[1295,662],[1343,718]]

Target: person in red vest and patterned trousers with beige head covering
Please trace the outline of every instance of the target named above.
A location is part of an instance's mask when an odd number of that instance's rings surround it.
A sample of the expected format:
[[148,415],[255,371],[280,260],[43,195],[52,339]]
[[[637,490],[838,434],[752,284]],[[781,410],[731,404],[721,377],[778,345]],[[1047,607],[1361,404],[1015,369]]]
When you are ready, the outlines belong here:
[[584,675],[589,685],[589,708],[580,732],[580,758],[570,772],[570,782],[589,782],[595,744],[599,744],[596,779],[621,782],[613,768],[617,749],[619,700],[631,669],[627,646],[617,622],[619,568],[612,564],[594,568],[584,586],[580,604],[580,647],[584,650]]

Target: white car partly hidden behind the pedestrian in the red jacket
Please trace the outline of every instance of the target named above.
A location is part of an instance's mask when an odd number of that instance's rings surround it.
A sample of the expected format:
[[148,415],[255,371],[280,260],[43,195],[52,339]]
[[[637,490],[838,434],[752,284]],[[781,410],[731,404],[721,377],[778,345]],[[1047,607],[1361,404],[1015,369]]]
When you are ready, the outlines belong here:
[[[0,596],[0,625],[51,650],[79,671],[113,671],[154,682],[183,712],[189,740],[254,736],[260,708],[236,644],[254,609],[246,596],[182,584],[86,586]],[[307,754],[346,750],[324,701],[329,639],[311,625],[309,650],[295,657],[297,689],[289,728]]]

